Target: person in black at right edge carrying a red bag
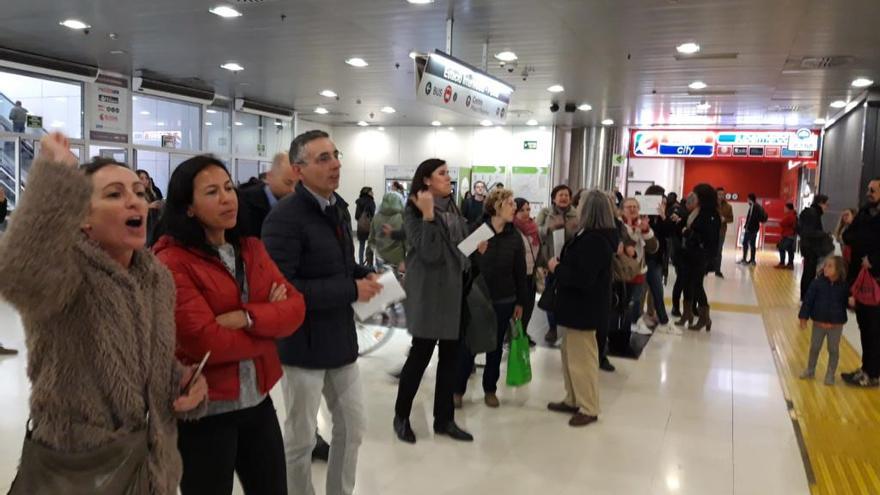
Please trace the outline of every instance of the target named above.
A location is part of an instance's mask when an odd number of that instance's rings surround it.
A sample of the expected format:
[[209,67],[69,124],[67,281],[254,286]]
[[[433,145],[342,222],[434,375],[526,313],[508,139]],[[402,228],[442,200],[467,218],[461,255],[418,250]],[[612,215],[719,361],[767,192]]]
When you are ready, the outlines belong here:
[[[843,242],[852,248],[850,284],[862,267],[867,267],[875,279],[880,277],[880,177],[868,184],[867,199],[868,204],[843,233]],[[856,320],[862,341],[862,367],[841,376],[850,385],[880,386],[880,306],[856,304]]]

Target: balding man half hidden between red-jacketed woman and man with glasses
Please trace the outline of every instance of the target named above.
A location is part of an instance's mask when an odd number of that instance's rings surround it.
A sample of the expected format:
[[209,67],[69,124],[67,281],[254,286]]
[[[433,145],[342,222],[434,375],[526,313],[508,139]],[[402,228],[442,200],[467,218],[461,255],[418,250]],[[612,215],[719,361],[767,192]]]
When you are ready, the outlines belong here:
[[272,168],[266,181],[243,187],[238,192],[242,235],[260,237],[266,215],[278,201],[292,193],[299,178],[290,165],[287,153],[278,153],[272,159]]

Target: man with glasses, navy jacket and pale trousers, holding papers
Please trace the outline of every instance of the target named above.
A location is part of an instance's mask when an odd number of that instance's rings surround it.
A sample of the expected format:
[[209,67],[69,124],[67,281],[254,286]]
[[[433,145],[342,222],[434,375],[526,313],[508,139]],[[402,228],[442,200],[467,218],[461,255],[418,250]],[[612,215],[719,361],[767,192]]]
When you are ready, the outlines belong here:
[[278,343],[287,407],[287,486],[291,493],[314,493],[310,453],[323,395],[334,424],[327,493],[351,494],[365,426],[351,305],[370,300],[382,287],[375,274],[354,262],[348,205],[335,192],[339,151],[328,134],[297,136],[290,162],[301,182],[263,224],[266,249],[306,300],[302,326]]

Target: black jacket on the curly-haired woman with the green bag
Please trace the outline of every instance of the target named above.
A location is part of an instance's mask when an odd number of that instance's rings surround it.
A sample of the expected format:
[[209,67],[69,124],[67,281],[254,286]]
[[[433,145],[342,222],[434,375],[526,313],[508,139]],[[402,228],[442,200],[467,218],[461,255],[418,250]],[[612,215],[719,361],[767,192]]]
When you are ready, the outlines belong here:
[[[487,224],[492,228],[491,222]],[[513,298],[516,304],[525,307],[528,300],[525,246],[513,224],[507,224],[489,239],[486,254],[477,254],[477,266],[493,301]]]

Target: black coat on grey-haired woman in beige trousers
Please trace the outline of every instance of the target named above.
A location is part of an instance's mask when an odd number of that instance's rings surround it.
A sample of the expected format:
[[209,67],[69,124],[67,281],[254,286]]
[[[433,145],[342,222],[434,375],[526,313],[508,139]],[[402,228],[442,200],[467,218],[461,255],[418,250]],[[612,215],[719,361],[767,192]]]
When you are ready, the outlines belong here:
[[566,244],[554,271],[556,323],[576,330],[604,330],[611,317],[611,258],[617,229],[587,230]]

